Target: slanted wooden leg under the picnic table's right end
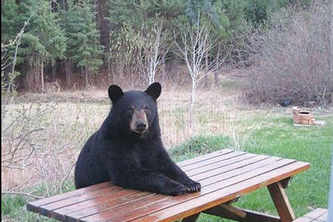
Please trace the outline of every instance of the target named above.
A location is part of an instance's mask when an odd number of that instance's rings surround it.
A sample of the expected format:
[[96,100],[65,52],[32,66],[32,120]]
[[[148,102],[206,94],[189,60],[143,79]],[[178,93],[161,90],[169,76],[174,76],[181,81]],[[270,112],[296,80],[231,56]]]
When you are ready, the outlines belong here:
[[267,188],[271,194],[281,222],[291,222],[295,220],[295,214],[293,214],[293,209],[291,208],[286,191],[282,187],[281,182],[275,182],[271,185],[268,185]]

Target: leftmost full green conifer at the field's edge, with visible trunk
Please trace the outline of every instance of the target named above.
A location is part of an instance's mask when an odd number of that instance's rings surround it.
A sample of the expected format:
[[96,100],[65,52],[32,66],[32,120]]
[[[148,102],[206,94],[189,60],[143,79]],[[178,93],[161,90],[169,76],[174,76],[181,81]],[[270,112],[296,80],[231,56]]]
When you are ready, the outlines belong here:
[[33,16],[22,35],[19,56],[24,60],[26,87],[35,91],[44,90],[44,64],[53,64],[58,58],[65,58],[66,37],[58,24],[58,17],[51,12],[49,1],[26,0],[21,3],[23,20]]

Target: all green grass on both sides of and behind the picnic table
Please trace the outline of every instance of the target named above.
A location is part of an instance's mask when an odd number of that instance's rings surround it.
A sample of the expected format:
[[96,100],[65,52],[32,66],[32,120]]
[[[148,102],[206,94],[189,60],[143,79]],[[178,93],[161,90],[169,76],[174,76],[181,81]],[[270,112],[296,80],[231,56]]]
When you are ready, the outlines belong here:
[[[327,207],[330,177],[330,158],[333,149],[333,115],[318,115],[317,119],[327,121],[325,126],[293,126],[290,114],[274,114],[262,121],[257,115],[239,119],[235,124],[241,128],[262,124],[246,137],[241,150],[250,153],[275,155],[311,163],[311,168],[295,176],[287,189],[289,200],[297,217],[316,207]],[[189,141],[171,148],[174,160],[186,160],[196,155],[210,153],[220,148],[230,148],[229,137],[222,135],[199,135]],[[65,191],[74,189],[70,180]],[[25,209],[26,198],[21,196],[2,196],[1,219],[17,221],[53,221],[37,216]],[[259,189],[235,203],[240,207],[275,214],[275,207],[266,189]],[[228,221],[216,216],[202,214],[198,221]]]

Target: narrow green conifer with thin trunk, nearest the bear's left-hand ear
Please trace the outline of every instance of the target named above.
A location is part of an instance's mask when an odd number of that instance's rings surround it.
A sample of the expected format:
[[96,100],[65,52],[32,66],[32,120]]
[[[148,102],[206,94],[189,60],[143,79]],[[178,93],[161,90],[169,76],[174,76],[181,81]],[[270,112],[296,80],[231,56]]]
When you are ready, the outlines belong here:
[[103,64],[103,46],[100,44],[93,6],[87,1],[71,6],[65,23],[67,58],[77,67],[85,69],[85,86],[88,87],[88,75],[96,73]]

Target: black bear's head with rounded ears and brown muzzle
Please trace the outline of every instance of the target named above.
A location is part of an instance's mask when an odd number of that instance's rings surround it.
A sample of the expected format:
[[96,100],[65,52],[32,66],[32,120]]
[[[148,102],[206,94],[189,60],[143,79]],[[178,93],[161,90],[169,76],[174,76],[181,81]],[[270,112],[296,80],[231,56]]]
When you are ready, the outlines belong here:
[[121,133],[143,138],[150,132],[158,132],[156,99],[161,94],[160,83],[152,83],[145,91],[123,92],[121,87],[110,85],[112,122]]

